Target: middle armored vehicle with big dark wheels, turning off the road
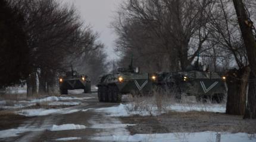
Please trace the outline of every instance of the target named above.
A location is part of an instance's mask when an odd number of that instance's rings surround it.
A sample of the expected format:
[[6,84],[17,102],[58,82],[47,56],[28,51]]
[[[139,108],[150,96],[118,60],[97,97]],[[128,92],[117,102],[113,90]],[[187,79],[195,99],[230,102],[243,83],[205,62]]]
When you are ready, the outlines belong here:
[[149,73],[140,73],[139,67],[133,67],[133,59],[128,69],[119,68],[117,73],[99,78],[98,99],[100,102],[120,102],[123,94],[138,94],[148,92],[152,88]]

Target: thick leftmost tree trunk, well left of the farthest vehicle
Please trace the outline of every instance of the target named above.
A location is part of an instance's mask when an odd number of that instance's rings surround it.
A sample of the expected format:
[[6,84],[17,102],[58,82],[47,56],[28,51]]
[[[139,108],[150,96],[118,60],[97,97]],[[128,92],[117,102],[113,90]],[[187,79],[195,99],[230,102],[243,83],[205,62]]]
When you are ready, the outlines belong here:
[[32,72],[29,75],[29,78],[26,80],[27,82],[27,97],[35,96],[36,95],[36,73]]

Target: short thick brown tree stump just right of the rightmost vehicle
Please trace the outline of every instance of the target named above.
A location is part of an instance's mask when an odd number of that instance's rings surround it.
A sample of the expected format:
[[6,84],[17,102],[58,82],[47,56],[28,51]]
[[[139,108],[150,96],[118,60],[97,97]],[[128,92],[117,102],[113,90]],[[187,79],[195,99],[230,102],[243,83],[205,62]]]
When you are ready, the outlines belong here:
[[227,105],[226,114],[245,114],[246,88],[250,69],[248,66],[242,69],[230,70],[227,73]]

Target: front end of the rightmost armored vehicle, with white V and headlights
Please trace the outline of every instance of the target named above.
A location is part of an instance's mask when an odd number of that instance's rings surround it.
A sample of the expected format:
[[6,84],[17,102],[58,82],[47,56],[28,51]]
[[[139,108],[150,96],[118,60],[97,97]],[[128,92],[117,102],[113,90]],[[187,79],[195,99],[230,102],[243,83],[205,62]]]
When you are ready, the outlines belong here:
[[198,101],[223,101],[226,94],[224,76],[216,72],[190,71],[180,74],[180,89],[186,95],[194,95]]

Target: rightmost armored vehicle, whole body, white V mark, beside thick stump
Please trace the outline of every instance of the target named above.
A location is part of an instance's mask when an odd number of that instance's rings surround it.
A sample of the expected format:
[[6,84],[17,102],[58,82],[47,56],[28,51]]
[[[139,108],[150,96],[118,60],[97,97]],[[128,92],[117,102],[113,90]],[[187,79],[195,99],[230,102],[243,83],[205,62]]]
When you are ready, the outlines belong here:
[[157,88],[174,91],[178,100],[183,94],[196,96],[198,101],[219,103],[226,94],[226,77],[221,73],[209,72],[206,66],[199,63],[199,56],[195,64],[183,72],[160,72],[155,76]]

